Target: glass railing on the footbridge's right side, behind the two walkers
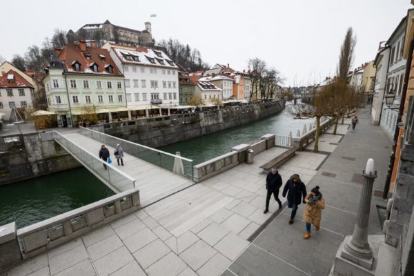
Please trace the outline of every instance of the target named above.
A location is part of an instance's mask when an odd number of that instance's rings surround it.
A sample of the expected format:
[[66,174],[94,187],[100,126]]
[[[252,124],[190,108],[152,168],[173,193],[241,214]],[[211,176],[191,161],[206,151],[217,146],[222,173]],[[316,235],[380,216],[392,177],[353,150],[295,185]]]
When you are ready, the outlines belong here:
[[[181,157],[179,155],[172,155],[169,152],[150,148],[141,144],[134,143],[125,139],[107,135],[105,133],[91,130],[89,128],[80,127],[81,135],[100,141],[102,144],[115,147],[119,144],[124,152],[147,161],[151,164],[175,172],[177,175],[183,175],[184,177],[193,180],[193,160]],[[182,171],[177,170],[175,164],[180,163],[184,168],[184,174]]]

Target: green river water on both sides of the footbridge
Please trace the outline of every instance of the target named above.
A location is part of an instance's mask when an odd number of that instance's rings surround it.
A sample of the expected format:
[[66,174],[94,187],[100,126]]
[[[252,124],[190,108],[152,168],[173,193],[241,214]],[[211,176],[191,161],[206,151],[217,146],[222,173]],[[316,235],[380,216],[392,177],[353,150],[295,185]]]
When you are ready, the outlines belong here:
[[[182,141],[159,148],[181,152],[193,159],[194,165],[223,155],[230,148],[259,139],[267,133],[293,136],[313,119],[295,120],[286,111],[251,124]],[[18,228],[68,212],[113,195],[105,184],[86,168],[77,168],[52,175],[0,186],[0,226],[17,221]]]

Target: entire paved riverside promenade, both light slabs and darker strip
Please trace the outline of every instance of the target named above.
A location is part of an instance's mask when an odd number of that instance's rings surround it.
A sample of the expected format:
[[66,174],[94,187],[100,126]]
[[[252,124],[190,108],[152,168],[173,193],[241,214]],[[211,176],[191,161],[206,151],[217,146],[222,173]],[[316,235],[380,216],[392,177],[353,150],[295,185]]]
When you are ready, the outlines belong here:
[[[368,115],[359,121],[355,131],[344,125],[338,135],[322,135],[322,152],[297,152],[279,168],[284,182],[299,173],[326,198],[322,229],[309,240],[302,237],[303,205],[293,225],[274,199],[263,214],[266,175],[259,166],[286,150],[275,147],[255,155],[254,164],[190,186],[0,276],[328,275],[344,235],[353,231],[366,159],[375,159],[375,188],[386,176],[391,141]],[[381,231],[376,212],[371,208],[370,234]]]

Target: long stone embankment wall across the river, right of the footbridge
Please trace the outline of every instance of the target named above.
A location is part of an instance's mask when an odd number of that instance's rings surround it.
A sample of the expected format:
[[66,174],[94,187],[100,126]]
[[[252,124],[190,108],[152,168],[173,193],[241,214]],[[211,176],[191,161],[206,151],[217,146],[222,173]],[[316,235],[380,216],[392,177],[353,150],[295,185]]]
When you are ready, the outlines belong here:
[[284,100],[237,106],[219,110],[112,122],[94,126],[94,130],[135,143],[158,148],[179,141],[242,126],[274,115],[284,109]]

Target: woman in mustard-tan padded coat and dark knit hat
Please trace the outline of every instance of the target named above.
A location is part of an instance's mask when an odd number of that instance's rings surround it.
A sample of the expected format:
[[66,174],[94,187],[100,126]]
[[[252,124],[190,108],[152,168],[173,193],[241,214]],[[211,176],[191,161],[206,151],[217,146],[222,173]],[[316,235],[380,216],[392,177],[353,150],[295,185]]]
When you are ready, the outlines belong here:
[[325,208],[325,199],[322,198],[322,193],[319,192],[319,186],[313,188],[311,193],[306,195],[305,202],[304,221],[306,222],[306,233],[304,239],[309,239],[311,237],[311,224],[319,231],[322,209]]

